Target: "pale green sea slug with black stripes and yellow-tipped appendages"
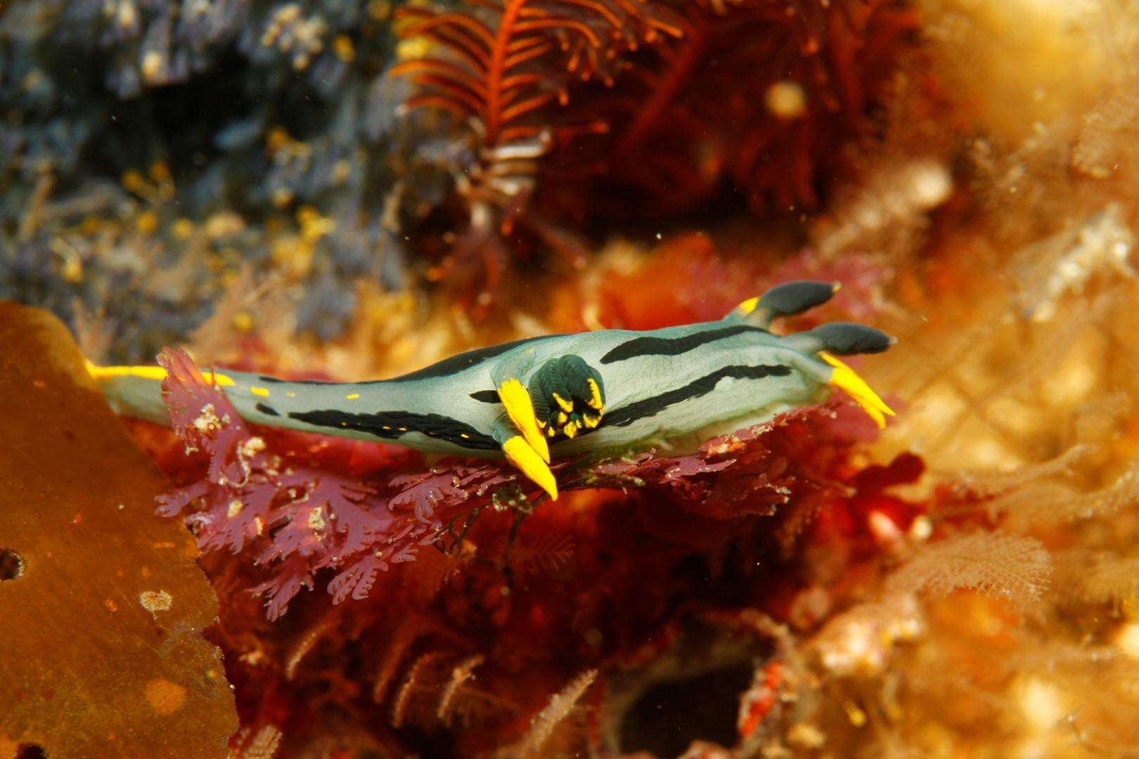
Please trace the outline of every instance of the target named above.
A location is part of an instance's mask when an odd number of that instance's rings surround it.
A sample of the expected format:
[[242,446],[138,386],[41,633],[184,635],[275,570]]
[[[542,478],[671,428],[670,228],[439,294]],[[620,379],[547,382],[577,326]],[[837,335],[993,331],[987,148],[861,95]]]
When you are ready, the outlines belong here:
[[[837,284],[788,282],[719,321],[533,337],[369,382],[207,377],[256,424],[383,440],[428,453],[506,456],[557,498],[550,462],[703,440],[845,390],[877,423],[893,411],[836,356],[880,353],[883,332],[829,323],[779,336],[771,321]],[[167,422],[157,366],[90,366],[123,415]]]

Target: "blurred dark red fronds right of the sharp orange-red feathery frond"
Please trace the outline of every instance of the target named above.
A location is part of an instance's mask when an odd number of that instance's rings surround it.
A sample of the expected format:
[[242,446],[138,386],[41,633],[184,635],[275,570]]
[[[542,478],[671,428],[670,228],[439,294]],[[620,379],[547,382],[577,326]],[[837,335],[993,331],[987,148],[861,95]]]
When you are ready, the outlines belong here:
[[548,163],[543,205],[555,193],[576,217],[659,216],[728,192],[753,213],[818,207],[842,148],[872,133],[916,11],[891,0],[681,7],[679,36],[568,109],[609,129]]

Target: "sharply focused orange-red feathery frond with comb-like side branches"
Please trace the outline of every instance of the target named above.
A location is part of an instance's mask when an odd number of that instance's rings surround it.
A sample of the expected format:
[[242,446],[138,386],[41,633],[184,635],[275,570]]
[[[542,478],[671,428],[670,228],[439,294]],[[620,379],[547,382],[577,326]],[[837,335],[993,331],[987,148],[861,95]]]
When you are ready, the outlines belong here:
[[[427,55],[392,69],[418,92],[404,109],[442,108],[466,121],[477,158],[456,172],[469,225],[456,244],[483,265],[483,292],[503,263],[499,236],[509,237],[534,189],[538,162],[574,137],[605,132],[585,115],[565,123],[547,113],[570,100],[572,85],[612,85],[624,53],[680,34],[675,14],[645,0],[470,0],[453,11],[404,8],[403,40],[433,43]],[[536,230],[542,234],[542,230]]]

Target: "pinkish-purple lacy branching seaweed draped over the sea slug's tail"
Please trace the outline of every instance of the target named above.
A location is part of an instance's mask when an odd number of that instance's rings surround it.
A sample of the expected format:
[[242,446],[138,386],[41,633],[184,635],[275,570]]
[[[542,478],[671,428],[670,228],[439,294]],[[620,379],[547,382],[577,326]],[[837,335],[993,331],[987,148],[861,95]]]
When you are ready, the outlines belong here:
[[431,545],[474,493],[509,481],[500,467],[457,464],[398,477],[380,489],[316,469],[295,453],[274,455],[185,350],[165,350],[163,394],[187,451],[208,456],[203,479],[161,500],[158,513],[189,512],[203,551],[248,550],[271,577],[252,588],[276,619],[313,572],[343,569],[329,584],[337,601],[363,597],[377,571]]

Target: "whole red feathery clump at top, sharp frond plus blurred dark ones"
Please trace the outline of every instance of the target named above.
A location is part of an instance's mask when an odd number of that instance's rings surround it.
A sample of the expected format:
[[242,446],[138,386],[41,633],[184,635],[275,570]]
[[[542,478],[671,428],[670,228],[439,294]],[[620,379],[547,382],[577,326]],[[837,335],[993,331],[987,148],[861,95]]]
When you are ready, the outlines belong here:
[[466,0],[399,16],[403,40],[428,42],[393,69],[417,86],[404,109],[459,116],[474,146],[452,167],[465,217],[444,222],[433,279],[477,282],[482,306],[511,258],[576,257],[571,222],[724,193],[757,213],[817,207],[917,28],[895,0]]

